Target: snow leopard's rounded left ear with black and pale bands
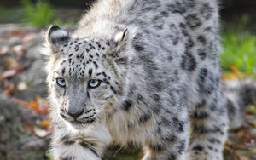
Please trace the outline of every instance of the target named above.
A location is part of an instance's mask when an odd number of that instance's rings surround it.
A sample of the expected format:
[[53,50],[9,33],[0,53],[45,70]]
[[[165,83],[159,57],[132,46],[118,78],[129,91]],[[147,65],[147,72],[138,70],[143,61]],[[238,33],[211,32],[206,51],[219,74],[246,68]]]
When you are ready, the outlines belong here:
[[56,51],[61,44],[67,43],[69,39],[67,31],[61,30],[59,26],[49,26],[44,35],[45,42],[53,51]]

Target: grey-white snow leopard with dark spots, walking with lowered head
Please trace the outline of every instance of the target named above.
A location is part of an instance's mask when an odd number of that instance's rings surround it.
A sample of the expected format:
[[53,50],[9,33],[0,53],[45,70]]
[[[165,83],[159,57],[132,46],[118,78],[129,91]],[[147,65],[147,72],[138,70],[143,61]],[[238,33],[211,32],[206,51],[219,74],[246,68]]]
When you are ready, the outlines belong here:
[[56,160],[130,143],[143,160],[223,159],[240,107],[220,83],[216,0],[101,0],[45,41]]

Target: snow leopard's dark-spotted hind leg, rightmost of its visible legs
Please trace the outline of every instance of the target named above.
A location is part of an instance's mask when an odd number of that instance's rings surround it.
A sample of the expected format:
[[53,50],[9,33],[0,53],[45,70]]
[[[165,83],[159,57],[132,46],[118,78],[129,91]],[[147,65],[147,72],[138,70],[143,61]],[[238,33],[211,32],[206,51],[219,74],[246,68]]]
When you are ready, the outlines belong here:
[[191,112],[192,137],[189,159],[222,160],[228,129],[224,96],[220,89],[215,89],[208,92],[207,96],[201,97],[201,102]]

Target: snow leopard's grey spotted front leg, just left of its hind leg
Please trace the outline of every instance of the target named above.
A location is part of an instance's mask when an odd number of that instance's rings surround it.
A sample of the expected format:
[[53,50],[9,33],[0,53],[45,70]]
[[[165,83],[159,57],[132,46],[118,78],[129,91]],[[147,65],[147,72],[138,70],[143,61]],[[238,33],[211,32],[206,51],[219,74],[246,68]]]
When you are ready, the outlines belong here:
[[143,160],[186,160],[188,126],[186,113],[159,117],[157,128],[144,144]]

